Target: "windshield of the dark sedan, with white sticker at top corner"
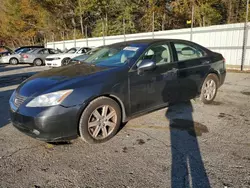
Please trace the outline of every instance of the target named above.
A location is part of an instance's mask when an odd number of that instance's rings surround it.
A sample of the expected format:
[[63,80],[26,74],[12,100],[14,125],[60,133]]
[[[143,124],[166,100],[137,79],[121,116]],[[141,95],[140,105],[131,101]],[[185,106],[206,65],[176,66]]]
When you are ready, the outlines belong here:
[[103,47],[90,55],[85,63],[92,63],[103,66],[122,66],[135,56],[138,47],[113,48]]

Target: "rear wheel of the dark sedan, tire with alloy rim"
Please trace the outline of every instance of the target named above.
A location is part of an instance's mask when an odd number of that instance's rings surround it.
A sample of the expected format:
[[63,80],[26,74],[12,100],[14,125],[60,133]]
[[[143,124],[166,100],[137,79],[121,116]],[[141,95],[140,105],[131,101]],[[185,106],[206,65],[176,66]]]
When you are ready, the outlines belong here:
[[219,86],[218,76],[215,74],[209,74],[205,81],[203,82],[201,89],[201,101],[204,104],[211,104],[217,94]]

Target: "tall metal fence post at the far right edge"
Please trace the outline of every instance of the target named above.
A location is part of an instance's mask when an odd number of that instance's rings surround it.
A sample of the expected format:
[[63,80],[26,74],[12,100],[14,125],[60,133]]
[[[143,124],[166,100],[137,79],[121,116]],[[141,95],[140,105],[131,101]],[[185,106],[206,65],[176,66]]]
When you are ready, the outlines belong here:
[[243,71],[244,64],[246,61],[246,52],[247,52],[247,40],[248,40],[248,14],[249,14],[249,0],[247,0],[247,12],[246,12],[246,21],[244,26],[244,36],[243,36],[243,46],[242,46],[242,58],[240,70]]

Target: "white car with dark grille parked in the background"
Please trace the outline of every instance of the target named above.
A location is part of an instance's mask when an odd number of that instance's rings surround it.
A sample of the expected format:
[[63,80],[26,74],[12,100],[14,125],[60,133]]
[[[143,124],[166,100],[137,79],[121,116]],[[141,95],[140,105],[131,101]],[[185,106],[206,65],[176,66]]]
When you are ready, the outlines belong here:
[[45,65],[49,67],[61,67],[69,63],[69,61],[81,54],[86,54],[91,48],[70,48],[66,53],[49,55],[45,59]]

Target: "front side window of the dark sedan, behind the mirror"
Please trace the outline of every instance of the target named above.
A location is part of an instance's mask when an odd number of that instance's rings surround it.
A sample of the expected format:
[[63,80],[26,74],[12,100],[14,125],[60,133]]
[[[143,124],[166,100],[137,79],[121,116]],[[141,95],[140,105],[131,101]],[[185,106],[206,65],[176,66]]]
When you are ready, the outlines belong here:
[[161,44],[161,45],[158,44],[152,46],[146,51],[142,59],[138,62],[137,66],[144,59],[153,60],[156,63],[156,65],[171,63],[172,56],[170,53],[169,46],[167,44]]

